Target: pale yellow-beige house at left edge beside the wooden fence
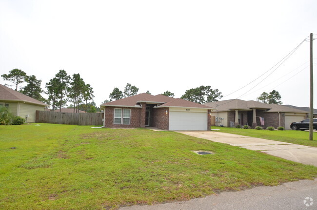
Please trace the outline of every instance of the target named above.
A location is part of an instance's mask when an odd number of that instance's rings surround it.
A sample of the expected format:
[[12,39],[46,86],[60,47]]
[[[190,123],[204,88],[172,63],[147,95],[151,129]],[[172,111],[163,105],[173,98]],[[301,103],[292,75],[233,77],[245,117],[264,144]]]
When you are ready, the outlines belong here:
[[0,84],[0,106],[7,107],[13,115],[24,118],[26,122],[35,122],[36,111],[45,111],[49,105]]

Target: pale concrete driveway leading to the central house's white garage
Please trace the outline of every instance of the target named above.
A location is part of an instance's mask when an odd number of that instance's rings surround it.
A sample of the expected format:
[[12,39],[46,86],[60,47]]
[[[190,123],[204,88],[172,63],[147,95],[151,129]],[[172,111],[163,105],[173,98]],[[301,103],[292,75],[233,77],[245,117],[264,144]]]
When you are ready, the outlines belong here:
[[254,138],[249,136],[226,134],[215,131],[176,131],[198,138],[230,144],[248,150],[261,151],[298,163],[317,166],[317,148],[287,142]]

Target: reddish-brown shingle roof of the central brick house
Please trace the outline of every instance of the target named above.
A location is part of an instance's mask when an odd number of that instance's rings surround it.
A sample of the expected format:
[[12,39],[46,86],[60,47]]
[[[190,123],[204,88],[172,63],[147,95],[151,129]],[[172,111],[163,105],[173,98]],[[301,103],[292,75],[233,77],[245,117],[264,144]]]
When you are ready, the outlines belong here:
[[139,103],[153,103],[157,104],[156,108],[161,107],[188,107],[188,108],[200,108],[200,109],[211,109],[208,106],[187,101],[180,98],[168,97],[165,95],[150,95],[150,94],[138,94],[130,97],[122,98],[109,103],[101,104],[103,107],[136,107],[141,108]]

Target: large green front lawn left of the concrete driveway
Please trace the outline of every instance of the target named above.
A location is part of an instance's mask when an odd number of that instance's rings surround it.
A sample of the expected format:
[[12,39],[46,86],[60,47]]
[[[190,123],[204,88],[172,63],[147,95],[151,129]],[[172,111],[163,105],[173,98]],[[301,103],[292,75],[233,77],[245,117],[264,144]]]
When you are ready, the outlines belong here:
[[313,166],[175,132],[0,126],[6,210],[117,209],[316,176]]

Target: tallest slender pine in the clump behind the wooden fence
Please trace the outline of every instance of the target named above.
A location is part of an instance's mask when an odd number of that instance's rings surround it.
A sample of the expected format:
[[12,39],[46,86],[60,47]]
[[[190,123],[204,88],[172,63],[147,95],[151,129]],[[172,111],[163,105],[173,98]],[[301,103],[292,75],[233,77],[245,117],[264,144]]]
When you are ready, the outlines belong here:
[[55,75],[55,77],[58,80],[58,105],[59,105],[59,112],[61,112],[61,108],[66,104],[67,102],[67,88],[69,85],[70,76],[67,75],[65,70],[59,70],[59,73]]

